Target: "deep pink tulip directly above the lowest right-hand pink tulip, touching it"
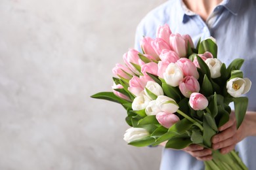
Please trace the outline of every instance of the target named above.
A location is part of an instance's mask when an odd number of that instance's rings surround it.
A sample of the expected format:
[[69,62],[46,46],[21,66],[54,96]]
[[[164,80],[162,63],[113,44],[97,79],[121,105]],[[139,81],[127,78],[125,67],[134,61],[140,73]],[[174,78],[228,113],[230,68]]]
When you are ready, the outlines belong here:
[[189,98],[191,93],[199,92],[200,84],[194,76],[186,76],[180,82],[179,89],[181,90],[182,95]]

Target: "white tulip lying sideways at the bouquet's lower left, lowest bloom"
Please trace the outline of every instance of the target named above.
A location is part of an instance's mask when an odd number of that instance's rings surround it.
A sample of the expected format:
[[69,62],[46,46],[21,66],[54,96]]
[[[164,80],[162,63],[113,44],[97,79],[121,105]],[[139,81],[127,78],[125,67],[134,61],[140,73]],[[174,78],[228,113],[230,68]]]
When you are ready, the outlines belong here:
[[125,135],[123,135],[123,140],[127,143],[131,143],[132,141],[136,141],[142,139],[144,137],[149,136],[150,134],[144,128],[139,127],[131,127],[125,131]]

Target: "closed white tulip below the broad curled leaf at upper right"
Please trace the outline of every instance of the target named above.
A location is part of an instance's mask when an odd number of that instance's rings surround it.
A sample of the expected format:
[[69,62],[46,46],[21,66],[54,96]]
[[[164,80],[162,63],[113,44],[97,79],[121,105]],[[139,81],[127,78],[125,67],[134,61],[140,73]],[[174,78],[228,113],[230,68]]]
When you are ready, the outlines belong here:
[[207,58],[205,63],[208,65],[211,72],[211,78],[218,78],[221,76],[221,61],[217,58]]

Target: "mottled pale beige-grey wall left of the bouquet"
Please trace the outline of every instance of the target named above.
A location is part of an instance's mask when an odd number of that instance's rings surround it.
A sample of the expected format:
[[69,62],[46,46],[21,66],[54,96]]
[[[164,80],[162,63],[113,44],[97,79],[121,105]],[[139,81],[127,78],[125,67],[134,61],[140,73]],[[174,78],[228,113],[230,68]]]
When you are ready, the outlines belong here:
[[91,99],[137,24],[165,1],[0,1],[0,169],[158,169],[161,148],[123,141],[125,110]]

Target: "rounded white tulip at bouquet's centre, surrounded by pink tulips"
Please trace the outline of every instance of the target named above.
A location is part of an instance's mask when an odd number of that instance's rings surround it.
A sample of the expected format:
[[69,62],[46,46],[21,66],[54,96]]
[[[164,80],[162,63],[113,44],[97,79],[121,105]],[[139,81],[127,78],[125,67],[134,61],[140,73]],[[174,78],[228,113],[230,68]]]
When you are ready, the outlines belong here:
[[169,63],[165,73],[163,73],[163,78],[170,86],[177,87],[183,79],[182,69],[176,63]]

